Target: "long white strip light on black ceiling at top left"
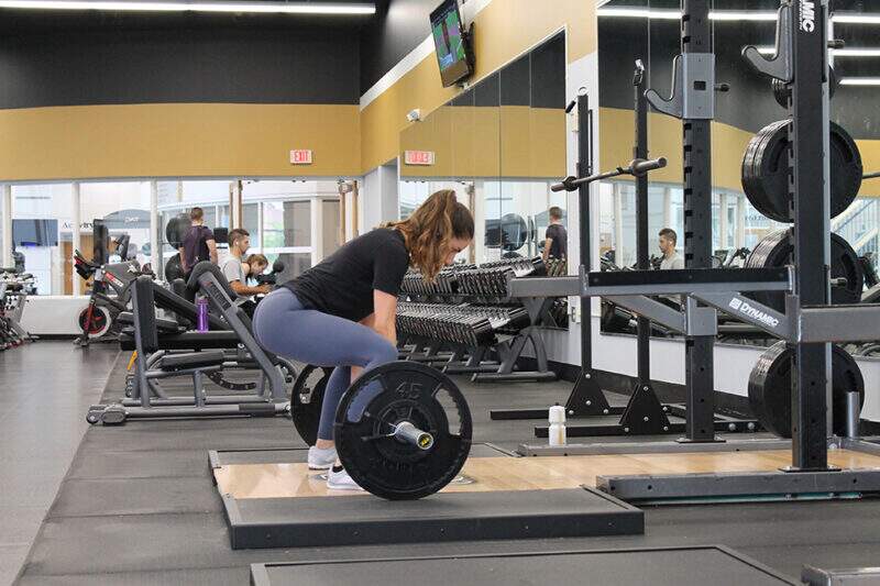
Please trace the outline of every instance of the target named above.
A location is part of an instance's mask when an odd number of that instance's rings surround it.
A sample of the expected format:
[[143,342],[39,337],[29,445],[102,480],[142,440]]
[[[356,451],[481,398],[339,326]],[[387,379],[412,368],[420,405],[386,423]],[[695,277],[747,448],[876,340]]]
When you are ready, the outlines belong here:
[[332,2],[139,2],[106,0],[0,0],[0,8],[140,12],[257,12],[268,14],[375,14],[375,4]]

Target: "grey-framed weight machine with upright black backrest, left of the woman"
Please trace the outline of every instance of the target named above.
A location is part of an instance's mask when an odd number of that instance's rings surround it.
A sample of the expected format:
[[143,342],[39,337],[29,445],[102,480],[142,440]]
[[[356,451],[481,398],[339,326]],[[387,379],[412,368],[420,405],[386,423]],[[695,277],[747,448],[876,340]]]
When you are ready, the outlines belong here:
[[[124,399],[116,405],[96,405],[89,408],[86,420],[89,423],[102,422],[105,424],[118,424],[129,418],[150,419],[150,418],[170,418],[170,417],[230,417],[230,416],[274,416],[289,411],[289,401],[286,396],[282,401],[275,401],[274,396],[263,394],[264,385],[261,384],[261,395],[226,395],[208,397],[204,391],[202,376],[219,373],[223,368],[227,355],[222,350],[201,350],[198,352],[185,352],[168,354],[161,349],[160,331],[172,333],[174,338],[184,335],[180,325],[174,320],[156,318],[155,314],[155,284],[147,276],[138,277],[132,285],[132,311],[131,319],[134,327],[134,350],[136,351],[136,389],[153,389],[155,397],[150,392],[139,392],[138,398]],[[260,353],[270,366],[264,371],[264,378],[273,376],[282,379],[280,372],[268,362],[255,340],[250,336],[245,341],[241,339],[241,332],[234,331],[239,341],[252,344],[254,350]],[[194,335],[205,335],[195,333]],[[260,362],[260,358],[257,358]],[[261,364],[262,367],[262,364]],[[167,397],[153,382],[179,377],[193,377],[193,397]],[[282,383],[283,385],[283,379]],[[282,386],[283,390],[283,386]]]

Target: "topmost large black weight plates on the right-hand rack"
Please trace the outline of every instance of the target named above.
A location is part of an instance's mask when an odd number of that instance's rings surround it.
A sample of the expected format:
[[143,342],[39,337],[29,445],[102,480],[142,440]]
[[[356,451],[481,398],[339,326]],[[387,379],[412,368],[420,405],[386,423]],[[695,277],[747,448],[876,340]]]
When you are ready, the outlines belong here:
[[[858,196],[864,173],[856,141],[831,123],[831,218],[843,213]],[[792,222],[789,197],[789,122],[782,120],[752,136],[743,156],[743,190],[756,210],[777,222]]]

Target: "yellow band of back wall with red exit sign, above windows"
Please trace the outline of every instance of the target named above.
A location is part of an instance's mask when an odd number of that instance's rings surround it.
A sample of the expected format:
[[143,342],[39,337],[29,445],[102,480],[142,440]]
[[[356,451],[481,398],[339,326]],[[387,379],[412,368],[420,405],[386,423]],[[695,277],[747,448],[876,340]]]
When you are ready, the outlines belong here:
[[[360,146],[356,106],[0,110],[0,180],[358,175]],[[311,148],[314,164],[290,165],[292,148]]]

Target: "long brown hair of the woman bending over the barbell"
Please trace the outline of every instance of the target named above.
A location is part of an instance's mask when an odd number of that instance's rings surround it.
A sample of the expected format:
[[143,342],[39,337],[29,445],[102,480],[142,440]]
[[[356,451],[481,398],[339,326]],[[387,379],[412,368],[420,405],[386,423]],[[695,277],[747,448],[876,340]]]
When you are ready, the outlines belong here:
[[452,189],[432,194],[413,215],[385,225],[404,234],[413,265],[428,280],[443,268],[452,239],[474,237],[474,219],[468,208],[455,200]]

